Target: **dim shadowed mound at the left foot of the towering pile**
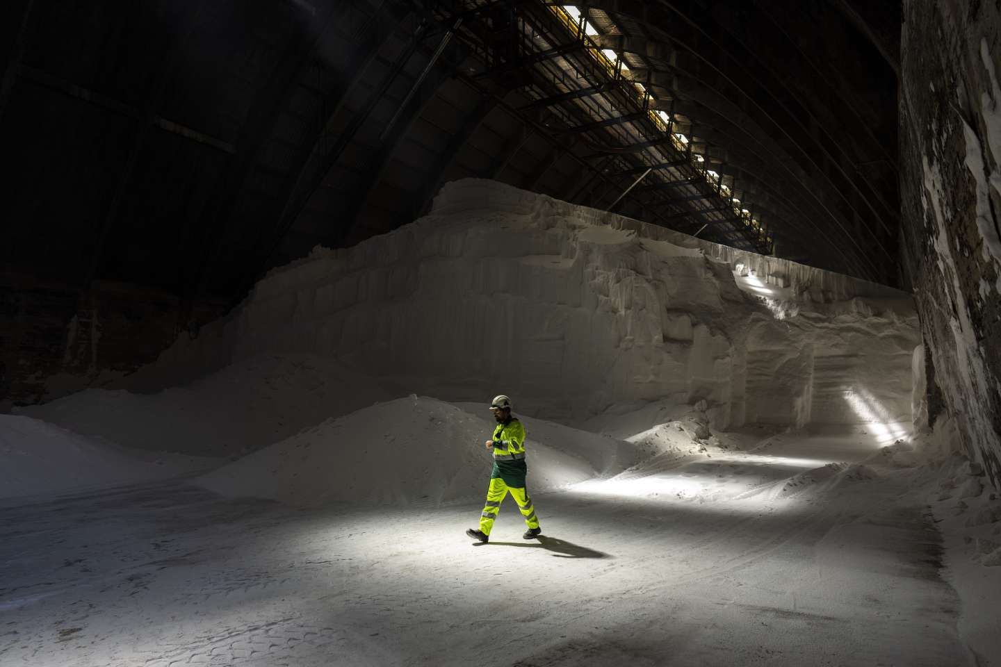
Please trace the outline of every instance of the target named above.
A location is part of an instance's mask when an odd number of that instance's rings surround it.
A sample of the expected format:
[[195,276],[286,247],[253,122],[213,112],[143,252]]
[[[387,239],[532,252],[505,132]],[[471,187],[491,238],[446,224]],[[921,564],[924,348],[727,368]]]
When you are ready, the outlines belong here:
[[400,393],[330,359],[261,354],[156,393],[87,389],[19,410],[130,448],[233,456]]

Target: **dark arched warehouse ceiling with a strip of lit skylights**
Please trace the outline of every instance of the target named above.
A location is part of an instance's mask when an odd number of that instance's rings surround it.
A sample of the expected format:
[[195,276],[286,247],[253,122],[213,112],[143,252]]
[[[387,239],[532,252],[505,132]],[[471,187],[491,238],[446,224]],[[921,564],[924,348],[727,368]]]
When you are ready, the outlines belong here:
[[8,0],[4,279],[232,302],[477,176],[898,282],[898,3],[576,9]]

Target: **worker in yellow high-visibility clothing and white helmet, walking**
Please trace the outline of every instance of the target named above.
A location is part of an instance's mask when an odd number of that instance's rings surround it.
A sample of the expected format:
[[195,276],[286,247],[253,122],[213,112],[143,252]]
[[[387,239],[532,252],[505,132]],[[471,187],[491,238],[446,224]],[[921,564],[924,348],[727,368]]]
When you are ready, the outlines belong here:
[[488,542],[500,503],[510,491],[529,526],[522,537],[532,540],[539,537],[543,529],[539,527],[539,518],[525,484],[529,471],[525,462],[525,426],[512,416],[511,399],[503,394],[490,402],[490,411],[497,422],[493,436],[486,441],[486,449],[493,452],[493,471],[486,490],[486,505],[479,517],[479,530],[469,528],[465,534],[480,542]]

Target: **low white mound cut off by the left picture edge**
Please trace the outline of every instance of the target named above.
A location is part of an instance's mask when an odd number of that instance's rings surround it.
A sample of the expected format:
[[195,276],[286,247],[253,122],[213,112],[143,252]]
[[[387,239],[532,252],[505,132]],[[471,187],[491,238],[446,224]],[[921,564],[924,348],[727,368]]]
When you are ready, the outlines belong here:
[[178,477],[218,461],[134,452],[29,417],[0,415],[0,498]]

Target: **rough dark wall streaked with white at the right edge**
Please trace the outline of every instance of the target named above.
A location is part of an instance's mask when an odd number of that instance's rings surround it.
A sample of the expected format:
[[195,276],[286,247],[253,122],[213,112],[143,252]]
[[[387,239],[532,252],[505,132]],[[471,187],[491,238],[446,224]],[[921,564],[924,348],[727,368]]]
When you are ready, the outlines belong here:
[[905,0],[901,60],[902,247],[934,383],[929,418],[954,417],[1001,488],[998,3]]

